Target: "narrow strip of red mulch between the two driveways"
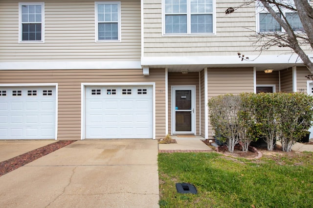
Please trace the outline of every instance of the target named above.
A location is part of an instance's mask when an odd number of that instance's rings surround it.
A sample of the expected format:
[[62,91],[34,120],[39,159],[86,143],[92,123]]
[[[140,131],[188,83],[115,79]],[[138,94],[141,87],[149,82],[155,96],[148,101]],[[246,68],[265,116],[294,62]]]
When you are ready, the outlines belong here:
[[11,159],[2,161],[0,162],[0,176],[11,172],[12,170],[18,169],[27,163],[37,160],[38,158],[45,156],[53,151],[59,150],[60,148],[63,148],[75,141],[76,140],[57,141],[36,150],[29,151]]

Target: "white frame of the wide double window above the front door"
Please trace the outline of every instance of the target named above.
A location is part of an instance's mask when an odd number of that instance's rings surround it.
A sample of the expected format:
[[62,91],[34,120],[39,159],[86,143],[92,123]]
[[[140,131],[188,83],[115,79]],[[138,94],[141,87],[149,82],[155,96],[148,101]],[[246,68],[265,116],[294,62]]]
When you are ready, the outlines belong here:
[[[162,0],[162,36],[215,36],[216,35],[216,0],[212,0],[212,33],[191,33],[191,0],[187,0],[187,33],[165,33],[165,0]],[[184,14],[181,14],[184,15]]]

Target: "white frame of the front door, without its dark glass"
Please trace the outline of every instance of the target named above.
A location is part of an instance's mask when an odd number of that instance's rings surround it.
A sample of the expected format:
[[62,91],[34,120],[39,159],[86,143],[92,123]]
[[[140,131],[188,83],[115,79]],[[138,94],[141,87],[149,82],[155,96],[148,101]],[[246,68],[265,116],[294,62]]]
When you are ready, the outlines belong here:
[[[176,106],[175,98],[176,90],[191,90],[191,131],[190,132],[176,132]],[[195,85],[174,85],[171,86],[171,134],[194,134],[196,135],[196,86]]]

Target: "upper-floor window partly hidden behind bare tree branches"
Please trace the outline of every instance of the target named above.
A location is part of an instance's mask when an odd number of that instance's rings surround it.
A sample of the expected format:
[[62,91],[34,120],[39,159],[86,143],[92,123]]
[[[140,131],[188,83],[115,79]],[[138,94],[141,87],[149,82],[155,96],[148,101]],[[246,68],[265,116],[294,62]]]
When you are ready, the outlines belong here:
[[[285,2],[284,2],[285,1]],[[282,3],[287,3],[290,6],[293,5],[293,1],[281,0]],[[266,32],[285,32],[285,30],[280,26],[280,24],[272,17],[272,15],[268,12],[268,10],[263,6],[261,2],[256,3],[257,7],[257,23],[258,23],[258,32],[266,33]],[[299,15],[289,9],[281,8],[282,14],[278,13],[278,9],[275,5],[272,6],[274,11],[276,11],[278,16],[285,16],[287,21],[289,22],[291,28],[295,32],[304,32],[302,23],[300,21]]]

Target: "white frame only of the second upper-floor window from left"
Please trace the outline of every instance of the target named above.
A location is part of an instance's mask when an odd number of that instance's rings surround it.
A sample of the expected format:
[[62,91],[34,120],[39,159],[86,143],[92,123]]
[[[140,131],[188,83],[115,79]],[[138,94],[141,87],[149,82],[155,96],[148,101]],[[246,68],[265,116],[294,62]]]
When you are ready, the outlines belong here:
[[[117,40],[99,40],[98,36],[98,5],[101,4],[117,4],[118,5],[118,38]],[[120,1],[95,1],[94,2],[94,15],[95,15],[95,42],[121,42],[121,2]]]

